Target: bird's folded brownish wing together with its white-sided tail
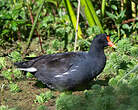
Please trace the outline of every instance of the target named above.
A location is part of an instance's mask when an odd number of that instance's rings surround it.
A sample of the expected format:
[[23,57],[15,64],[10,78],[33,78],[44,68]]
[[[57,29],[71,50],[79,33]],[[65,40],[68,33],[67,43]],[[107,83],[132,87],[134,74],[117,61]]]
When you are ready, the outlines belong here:
[[31,58],[29,61],[17,62],[15,65],[24,71],[30,69],[29,72],[60,74],[68,71],[73,64],[80,61],[82,56],[82,53],[74,52],[43,55]]

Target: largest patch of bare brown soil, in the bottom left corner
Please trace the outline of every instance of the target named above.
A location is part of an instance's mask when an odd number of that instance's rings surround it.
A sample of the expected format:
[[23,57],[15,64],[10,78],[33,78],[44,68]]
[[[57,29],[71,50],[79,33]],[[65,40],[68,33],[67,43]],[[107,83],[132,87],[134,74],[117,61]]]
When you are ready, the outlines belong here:
[[[16,82],[21,91],[12,93],[8,89],[8,80],[0,79],[0,84],[4,84],[5,88],[1,91],[0,105],[8,105],[9,108],[19,107],[21,110],[36,110],[41,105],[35,102],[36,95],[48,91],[48,88],[39,88],[35,86],[36,80],[21,80]],[[58,96],[59,92],[54,91],[54,96]],[[43,105],[48,106],[49,110],[55,110],[55,99],[51,99]]]

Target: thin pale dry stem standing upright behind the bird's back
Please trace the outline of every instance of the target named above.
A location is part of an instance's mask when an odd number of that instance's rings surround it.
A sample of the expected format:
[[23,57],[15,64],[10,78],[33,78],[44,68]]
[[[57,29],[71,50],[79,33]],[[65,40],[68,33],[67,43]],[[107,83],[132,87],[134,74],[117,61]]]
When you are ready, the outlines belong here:
[[77,23],[76,23],[74,52],[76,51],[76,47],[77,47],[79,15],[80,15],[80,0],[78,0],[78,10],[77,10]]

